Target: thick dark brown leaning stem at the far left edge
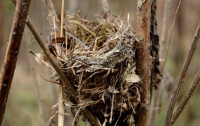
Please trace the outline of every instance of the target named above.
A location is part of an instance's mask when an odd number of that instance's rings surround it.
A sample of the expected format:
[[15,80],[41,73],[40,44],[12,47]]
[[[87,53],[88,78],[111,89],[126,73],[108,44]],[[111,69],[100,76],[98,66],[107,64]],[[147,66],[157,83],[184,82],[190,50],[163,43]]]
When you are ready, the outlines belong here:
[[0,125],[4,117],[30,0],[18,0],[0,77]]

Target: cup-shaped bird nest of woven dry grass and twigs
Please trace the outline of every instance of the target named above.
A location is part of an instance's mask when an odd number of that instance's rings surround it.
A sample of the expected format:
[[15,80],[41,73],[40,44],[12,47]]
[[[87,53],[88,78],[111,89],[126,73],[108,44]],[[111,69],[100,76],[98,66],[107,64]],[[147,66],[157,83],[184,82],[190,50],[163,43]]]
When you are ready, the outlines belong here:
[[140,102],[140,78],[135,73],[138,40],[129,23],[118,17],[92,22],[76,14],[66,15],[64,24],[65,38],[53,40],[56,51],[51,52],[75,87],[79,105],[102,123],[117,122],[123,113],[130,121]]

